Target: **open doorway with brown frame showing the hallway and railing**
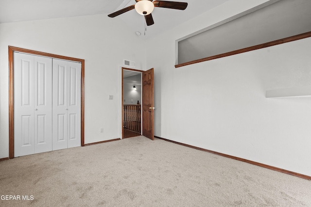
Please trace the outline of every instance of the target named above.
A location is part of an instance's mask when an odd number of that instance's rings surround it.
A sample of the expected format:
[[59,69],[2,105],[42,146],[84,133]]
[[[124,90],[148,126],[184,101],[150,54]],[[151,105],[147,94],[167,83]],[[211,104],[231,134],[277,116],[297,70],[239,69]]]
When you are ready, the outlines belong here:
[[141,135],[142,71],[122,67],[122,138]]

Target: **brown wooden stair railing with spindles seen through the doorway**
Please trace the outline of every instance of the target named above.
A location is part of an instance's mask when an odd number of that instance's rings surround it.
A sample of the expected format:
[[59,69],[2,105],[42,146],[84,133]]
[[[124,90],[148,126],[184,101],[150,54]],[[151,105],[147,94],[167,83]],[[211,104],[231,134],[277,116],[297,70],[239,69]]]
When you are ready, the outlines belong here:
[[124,122],[123,127],[140,133],[141,127],[141,112],[140,112],[141,105],[123,105],[123,112],[124,112]]

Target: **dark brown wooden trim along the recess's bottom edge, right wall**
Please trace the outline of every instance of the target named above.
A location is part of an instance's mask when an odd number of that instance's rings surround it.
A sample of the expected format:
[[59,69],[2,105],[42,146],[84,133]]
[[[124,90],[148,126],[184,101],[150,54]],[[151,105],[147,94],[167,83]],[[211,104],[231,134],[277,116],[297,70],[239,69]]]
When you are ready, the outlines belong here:
[[280,44],[283,44],[283,43],[288,43],[288,42],[292,42],[292,41],[295,41],[295,40],[304,39],[304,38],[307,38],[307,37],[311,37],[311,32],[305,32],[305,33],[302,33],[302,34],[297,34],[297,35],[294,35],[294,36],[291,36],[291,37],[286,37],[286,38],[283,38],[283,39],[279,39],[279,40],[263,43],[263,44],[260,44],[260,45],[255,45],[255,46],[248,47],[248,48],[242,48],[242,49],[226,52],[226,53],[223,53],[223,54],[210,56],[210,57],[207,57],[207,58],[202,58],[202,59],[198,59],[198,60],[194,60],[194,61],[190,61],[190,62],[186,62],[186,63],[182,63],[182,64],[176,64],[175,68],[186,66],[186,65],[189,65],[189,64],[196,64],[196,63],[201,63],[201,62],[205,62],[205,61],[210,61],[210,60],[214,60],[214,59],[218,59],[218,58],[224,58],[224,57],[227,57],[227,56],[230,56],[230,55],[235,55],[235,54],[239,54],[239,53],[243,53],[243,52],[249,52],[249,51],[256,50],[256,49],[268,48],[268,47],[271,47],[271,46],[280,45]]

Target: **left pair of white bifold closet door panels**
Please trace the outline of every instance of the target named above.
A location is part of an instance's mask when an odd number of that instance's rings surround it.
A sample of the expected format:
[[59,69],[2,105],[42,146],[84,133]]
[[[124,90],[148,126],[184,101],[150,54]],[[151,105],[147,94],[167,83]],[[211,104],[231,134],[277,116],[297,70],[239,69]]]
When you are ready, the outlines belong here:
[[14,53],[15,156],[52,150],[52,59]]

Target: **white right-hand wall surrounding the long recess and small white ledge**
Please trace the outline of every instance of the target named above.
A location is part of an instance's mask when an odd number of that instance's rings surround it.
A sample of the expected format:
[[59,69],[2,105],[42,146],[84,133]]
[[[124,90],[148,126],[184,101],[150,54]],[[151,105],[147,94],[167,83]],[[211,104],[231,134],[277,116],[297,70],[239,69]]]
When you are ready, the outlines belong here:
[[155,136],[310,176],[311,97],[265,91],[311,85],[311,38],[174,68],[175,40],[265,0],[235,2],[148,41]]

